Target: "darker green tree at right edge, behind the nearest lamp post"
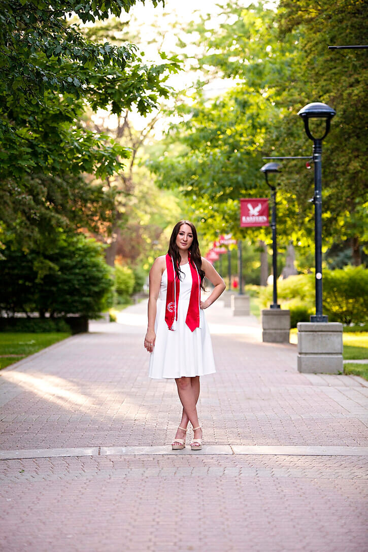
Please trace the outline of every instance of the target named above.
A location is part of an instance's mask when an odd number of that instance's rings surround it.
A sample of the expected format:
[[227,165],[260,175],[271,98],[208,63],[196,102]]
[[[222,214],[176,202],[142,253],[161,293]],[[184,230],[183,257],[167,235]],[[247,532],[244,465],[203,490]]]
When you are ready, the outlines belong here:
[[[335,108],[323,151],[323,235],[329,243],[348,240],[353,264],[361,262],[360,246],[366,243],[368,226],[368,57],[365,50],[330,51],[328,45],[361,44],[367,7],[364,0],[281,0],[277,13],[281,40],[297,35],[299,61],[293,62],[291,86],[276,83],[288,110],[272,145],[278,153],[285,153],[285,144],[292,144],[291,155],[310,152],[311,142],[296,113],[314,101]],[[282,181],[288,190],[308,193],[312,188],[311,178],[292,163]],[[300,200],[298,204],[306,211],[305,204]]]

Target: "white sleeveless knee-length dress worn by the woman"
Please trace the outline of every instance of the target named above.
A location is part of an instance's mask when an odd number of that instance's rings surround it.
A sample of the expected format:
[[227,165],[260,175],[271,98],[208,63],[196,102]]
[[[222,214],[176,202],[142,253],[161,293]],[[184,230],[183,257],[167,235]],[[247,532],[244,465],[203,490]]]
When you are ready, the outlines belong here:
[[162,274],[155,320],[156,342],[154,351],[150,353],[150,378],[203,376],[216,371],[211,336],[203,310],[199,309],[199,328],[192,332],[185,323],[192,290],[192,274],[189,263],[182,264],[180,269],[182,274],[175,331],[169,330],[165,322],[166,268]]

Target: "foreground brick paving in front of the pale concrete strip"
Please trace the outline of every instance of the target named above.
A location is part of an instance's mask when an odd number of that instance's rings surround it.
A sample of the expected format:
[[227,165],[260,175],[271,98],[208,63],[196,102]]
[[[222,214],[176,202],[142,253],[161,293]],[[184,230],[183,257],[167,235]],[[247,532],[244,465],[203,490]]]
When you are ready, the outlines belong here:
[[115,456],[1,466],[8,552],[171,551],[178,540],[183,550],[213,552],[366,550],[366,458]]

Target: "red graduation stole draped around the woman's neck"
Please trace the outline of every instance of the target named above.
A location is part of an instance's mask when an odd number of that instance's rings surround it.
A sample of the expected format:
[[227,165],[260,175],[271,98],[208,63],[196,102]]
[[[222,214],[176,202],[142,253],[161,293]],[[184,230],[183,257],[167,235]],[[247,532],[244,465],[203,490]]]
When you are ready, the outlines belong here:
[[[189,300],[186,325],[193,332],[199,328],[199,300],[201,298],[201,277],[198,269],[191,261],[190,253],[188,253],[188,261],[192,274],[192,290]],[[167,270],[167,291],[166,291],[166,308],[165,322],[169,330],[175,331],[177,321],[178,299],[180,292],[180,279],[174,269],[174,260],[171,255],[166,255],[166,270]]]

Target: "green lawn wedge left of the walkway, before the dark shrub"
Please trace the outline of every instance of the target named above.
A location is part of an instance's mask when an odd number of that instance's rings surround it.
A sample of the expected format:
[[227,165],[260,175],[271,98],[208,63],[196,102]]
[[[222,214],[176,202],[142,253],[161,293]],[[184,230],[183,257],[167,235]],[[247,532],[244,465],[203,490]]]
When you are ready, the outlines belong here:
[[0,333],[0,369],[69,336],[68,332],[2,332]]

